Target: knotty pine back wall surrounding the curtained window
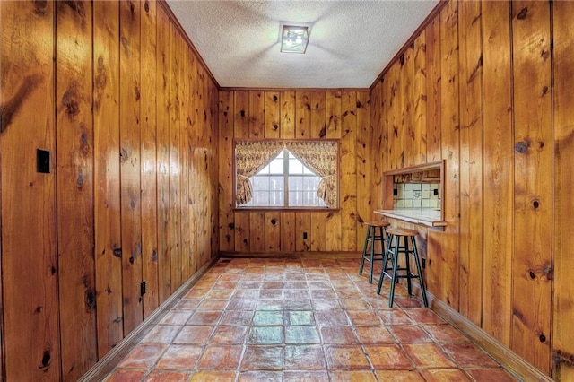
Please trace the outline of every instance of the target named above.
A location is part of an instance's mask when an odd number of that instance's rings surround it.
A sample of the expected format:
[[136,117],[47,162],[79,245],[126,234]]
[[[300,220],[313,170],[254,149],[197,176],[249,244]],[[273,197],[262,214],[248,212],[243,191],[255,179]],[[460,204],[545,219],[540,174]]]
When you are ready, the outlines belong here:
[[[222,252],[357,251],[372,219],[380,168],[370,146],[368,91],[222,90],[219,92],[220,248]],[[233,139],[340,139],[340,209],[239,211],[233,198]],[[307,239],[303,239],[307,232]]]

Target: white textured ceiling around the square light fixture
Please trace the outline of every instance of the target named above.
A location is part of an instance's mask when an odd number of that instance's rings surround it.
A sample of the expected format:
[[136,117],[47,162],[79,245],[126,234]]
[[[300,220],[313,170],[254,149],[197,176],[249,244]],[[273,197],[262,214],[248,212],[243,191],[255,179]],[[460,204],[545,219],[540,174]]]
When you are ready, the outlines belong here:
[[[167,3],[222,87],[368,88],[438,0]],[[306,54],[282,22],[310,26]]]

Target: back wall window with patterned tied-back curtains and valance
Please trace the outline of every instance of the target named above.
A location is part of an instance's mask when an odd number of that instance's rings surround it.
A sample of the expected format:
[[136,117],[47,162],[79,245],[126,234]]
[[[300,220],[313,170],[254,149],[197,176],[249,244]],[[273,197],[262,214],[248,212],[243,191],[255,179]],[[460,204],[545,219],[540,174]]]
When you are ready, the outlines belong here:
[[241,141],[235,155],[238,207],[336,208],[336,141]]

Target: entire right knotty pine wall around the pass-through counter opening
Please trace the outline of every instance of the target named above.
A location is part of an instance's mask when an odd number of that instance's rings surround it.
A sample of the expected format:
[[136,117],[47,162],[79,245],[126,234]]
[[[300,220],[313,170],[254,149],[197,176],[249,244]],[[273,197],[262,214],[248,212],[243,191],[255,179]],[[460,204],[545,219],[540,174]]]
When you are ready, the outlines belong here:
[[573,15],[450,1],[370,93],[383,170],[446,161],[429,291],[561,380],[574,378]]

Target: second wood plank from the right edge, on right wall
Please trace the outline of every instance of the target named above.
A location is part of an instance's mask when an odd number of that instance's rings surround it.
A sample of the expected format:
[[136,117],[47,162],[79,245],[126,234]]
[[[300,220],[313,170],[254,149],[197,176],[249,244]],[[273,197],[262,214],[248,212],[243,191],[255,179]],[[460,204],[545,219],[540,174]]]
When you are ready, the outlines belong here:
[[550,44],[550,4],[512,2],[515,252],[510,345],[546,373],[552,291]]

